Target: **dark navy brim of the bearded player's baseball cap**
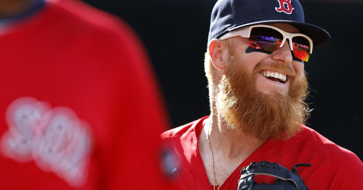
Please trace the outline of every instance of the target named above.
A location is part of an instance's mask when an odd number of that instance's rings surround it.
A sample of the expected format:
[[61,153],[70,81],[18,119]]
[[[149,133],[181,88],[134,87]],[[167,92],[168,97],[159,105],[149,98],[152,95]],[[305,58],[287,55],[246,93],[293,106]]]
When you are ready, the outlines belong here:
[[309,36],[311,40],[313,40],[314,48],[326,44],[330,39],[329,33],[324,29],[319,28],[318,26],[307,24],[305,22],[297,22],[289,20],[261,20],[256,22],[250,22],[244,25],[235,26],[233,28],[228,29],[228,31],[233,31],[247,26],[253,26],[258,24],[272,24],[272,23],[288,23],[295,26],[301,31],[301,33]]

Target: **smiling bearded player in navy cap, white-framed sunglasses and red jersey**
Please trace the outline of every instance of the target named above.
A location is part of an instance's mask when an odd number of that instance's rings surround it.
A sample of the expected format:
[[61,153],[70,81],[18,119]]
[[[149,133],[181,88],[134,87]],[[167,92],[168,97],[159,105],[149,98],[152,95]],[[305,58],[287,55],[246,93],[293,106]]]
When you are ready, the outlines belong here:
[[329,38],[298,0],[217,1],[204,63],[211,114],[162,134],[189,189],[362,189],[362,161],[303,125],[304,64]]

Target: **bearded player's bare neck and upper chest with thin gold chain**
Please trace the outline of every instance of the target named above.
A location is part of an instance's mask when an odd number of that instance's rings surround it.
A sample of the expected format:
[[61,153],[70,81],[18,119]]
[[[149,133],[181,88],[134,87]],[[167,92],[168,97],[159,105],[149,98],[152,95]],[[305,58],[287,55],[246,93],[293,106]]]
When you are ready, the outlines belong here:
[[216,110],[216,89],[217,85],[209,83],[211,115],[204,120],[203,130],[198,138],[198,148],[209,182],[212,185],[221,185],[264,141],[256,139],[253,135],[228,129]]

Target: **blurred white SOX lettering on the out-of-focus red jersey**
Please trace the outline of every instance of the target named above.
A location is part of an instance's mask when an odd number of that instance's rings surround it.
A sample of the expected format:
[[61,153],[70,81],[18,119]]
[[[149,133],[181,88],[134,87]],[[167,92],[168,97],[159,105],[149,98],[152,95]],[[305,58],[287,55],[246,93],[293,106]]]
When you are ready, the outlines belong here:
[[18,162],[34,160],[71,186],[85,183],[93,141],[89,125],[73,110],[23,97],[9,105],[6,122],[9,130],[1,138],[4,156]]

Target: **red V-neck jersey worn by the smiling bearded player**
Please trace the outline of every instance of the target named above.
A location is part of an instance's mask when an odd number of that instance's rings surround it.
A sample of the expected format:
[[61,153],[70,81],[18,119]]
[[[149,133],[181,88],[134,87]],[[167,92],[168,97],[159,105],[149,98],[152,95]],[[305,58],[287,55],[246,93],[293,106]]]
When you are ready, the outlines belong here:
[[[203,117],[184,126],[162,134],[162,139],[174,143],[180,157],[179,173],[188,189],[213,189],[208,181],[198,149],[198,138],[203,128]],[[267,140],[260,148],[244,160],[220,187],[220,190],[236,190],[241,169],[250,162],[278,162],[286,168],[297,163],[310,163],[310,167],[299,167],[306,186],[311,190],[362,189],[363,163],[352,152],[339,147],[309,127],[288,140]],[[274,178],[255,176],[255,180],[273,184]]]

